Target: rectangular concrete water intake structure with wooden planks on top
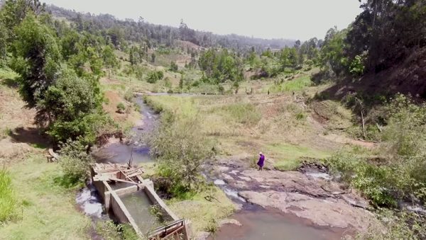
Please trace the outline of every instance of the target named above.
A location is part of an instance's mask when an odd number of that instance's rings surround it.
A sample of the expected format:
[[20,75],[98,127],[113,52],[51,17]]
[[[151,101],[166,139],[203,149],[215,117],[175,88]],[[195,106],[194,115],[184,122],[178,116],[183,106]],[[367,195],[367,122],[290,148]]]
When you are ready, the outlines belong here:
[[189,222],[176,216],[143,179],[143,168],[130,164],[92,164],[92,183],[107,212],[129,223],[141,239],[188,240]]

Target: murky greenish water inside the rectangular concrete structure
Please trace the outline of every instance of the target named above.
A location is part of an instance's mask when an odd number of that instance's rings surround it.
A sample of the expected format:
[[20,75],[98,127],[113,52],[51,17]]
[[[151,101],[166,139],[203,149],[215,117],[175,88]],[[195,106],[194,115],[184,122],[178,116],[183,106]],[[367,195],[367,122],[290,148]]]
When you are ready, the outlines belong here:
[[158,218],[151,214],[152,202],[143,190],[120,196],[120,198],[141,232],[148,233],[161,226]]

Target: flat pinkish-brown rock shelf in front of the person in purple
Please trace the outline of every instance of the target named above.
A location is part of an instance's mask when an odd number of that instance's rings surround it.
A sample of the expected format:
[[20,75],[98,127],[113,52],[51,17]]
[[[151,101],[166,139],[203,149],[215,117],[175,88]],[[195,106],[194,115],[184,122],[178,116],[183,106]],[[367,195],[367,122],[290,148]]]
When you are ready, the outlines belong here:
[[217,185],[244,201],[299,217],[317,227],[339,229],[342,236],[364,232],[375,222],[373,213],[367,210],[368,202],[356,191],[332,181],[322,166],[257,171],[250,168],[249,157],[234,156],[218,159],[206,168]]

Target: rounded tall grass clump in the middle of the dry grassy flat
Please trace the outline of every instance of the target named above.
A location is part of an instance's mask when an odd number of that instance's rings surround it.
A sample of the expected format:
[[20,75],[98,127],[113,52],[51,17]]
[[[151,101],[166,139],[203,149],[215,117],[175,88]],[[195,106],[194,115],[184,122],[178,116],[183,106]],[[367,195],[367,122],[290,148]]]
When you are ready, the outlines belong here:
[[225,105],[221,110],[234,120],[245,125],[256,125],[262,118],[261,112],[252,103]]

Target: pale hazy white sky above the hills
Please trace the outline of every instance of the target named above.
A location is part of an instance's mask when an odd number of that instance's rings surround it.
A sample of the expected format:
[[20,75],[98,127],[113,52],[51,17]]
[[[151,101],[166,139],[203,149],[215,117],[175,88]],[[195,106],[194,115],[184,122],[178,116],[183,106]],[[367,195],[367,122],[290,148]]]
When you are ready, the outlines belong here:
[[[43,1],[43,0],[42,0]],[[342,29],[361,12],[356,0],[45,0],[63,8],[213,33],[307,40]]]

